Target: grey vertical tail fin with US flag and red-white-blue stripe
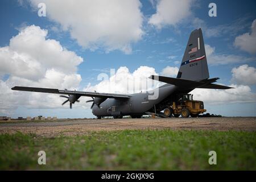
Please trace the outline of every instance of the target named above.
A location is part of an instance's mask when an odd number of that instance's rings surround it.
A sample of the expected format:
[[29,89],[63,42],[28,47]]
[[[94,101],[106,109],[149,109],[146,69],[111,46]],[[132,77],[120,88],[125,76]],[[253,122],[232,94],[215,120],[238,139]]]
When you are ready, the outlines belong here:
[[200,81],[209,78],[201,28],[191,32],[177,78]]

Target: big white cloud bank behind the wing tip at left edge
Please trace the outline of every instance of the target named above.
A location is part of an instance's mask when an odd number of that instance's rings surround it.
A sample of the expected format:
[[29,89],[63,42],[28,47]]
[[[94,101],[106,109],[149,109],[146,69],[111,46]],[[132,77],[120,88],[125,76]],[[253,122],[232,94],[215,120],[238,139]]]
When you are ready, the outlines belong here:
[[75,89],[81,76],[76,73],[83,59],[47,39],[47,30],[27,26],[0,47],[0,113],[9,114],[19,105],[29,108],[61,107],[63,99],[55,94],[13,91],[13,86]]

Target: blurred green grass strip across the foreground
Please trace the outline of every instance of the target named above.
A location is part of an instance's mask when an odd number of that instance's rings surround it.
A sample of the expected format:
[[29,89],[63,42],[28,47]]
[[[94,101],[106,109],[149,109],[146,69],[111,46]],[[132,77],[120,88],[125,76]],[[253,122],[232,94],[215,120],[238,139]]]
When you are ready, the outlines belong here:
[[[47,164],[38,164],[38,151]],[[217,152],[210,166],[208,152]],[[256,133],[124,130],[77,137],[0,135],[0,169],[256,169]]]

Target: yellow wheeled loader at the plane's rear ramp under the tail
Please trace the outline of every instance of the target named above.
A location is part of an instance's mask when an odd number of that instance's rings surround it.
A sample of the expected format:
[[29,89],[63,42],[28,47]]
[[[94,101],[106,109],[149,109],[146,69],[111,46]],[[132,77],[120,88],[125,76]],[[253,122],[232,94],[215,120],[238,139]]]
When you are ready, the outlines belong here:
[[193,95],[191,94],[177,94],[176,101],[172,102],[172,106],[164,109],[163,114],[165,117],[171,117],[172,114],[174,117],[188,118],[189,115],[192,118],[198,117],[199,114],[207,111],[204,109],[203,101],[193,100]]

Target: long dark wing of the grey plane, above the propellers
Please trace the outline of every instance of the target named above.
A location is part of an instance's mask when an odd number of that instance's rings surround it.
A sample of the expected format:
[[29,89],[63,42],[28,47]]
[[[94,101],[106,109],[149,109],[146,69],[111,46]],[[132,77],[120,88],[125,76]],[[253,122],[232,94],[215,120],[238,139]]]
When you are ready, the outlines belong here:
[[87,97],[99,97],[99,98],[126,99],[126,98],[130,98],[131,97],[129,94],[82,92],[82,91],[72,91],[72,90],[36,88],[36,87],[27,87],[27,86],[14,86],[11,89],[12,90],[27,91],[27,92],[43,92],[43,93],[55,93],[55,94],[69,94],[69,95],[87,96]]

